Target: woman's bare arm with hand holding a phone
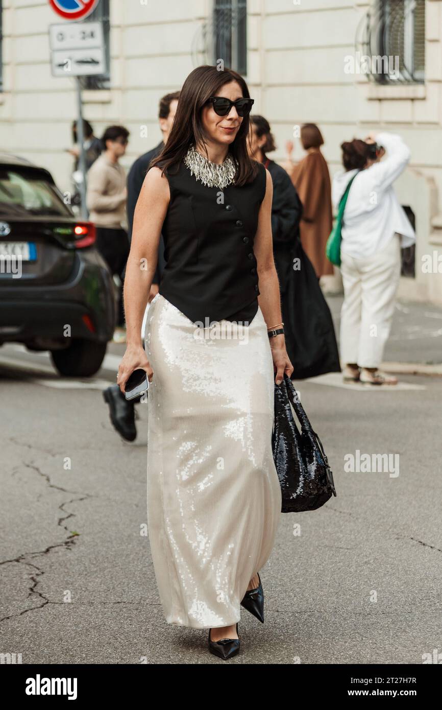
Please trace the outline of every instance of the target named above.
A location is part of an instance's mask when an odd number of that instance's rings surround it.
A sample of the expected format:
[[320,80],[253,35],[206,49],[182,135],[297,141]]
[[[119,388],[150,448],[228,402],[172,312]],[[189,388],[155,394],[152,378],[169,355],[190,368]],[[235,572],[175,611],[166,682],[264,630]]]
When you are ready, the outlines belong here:
[[136,368],[144,369],[149,380],[153,376],[141,343],[141,326],[157,266],[161,228],[169,201],[167,178],[161,175],[160,168],[151,168],[144,179],[133,215],[131,251],[124,278],[127,345],[118,368],[118,384],[122,392]]

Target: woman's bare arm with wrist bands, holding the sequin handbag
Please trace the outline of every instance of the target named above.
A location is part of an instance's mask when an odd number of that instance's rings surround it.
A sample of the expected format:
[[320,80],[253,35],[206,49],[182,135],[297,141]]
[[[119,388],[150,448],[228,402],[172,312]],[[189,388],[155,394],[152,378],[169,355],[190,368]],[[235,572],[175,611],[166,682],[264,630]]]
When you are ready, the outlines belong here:
[[[263,312],[264,320],[267,328],[282,322],[281,315],[281,300],[280,300],[280,284],[273,259],[273,244],[272,244],[272,195],[273,185],[272,178],[268,170],[266,172],[267,182],[265,186],[265,197],[261,203],[258,216],[258,229],[255,235],[255,244],[253,251],[255,252],[256,261],[258,262],[258,278],[260,295],[258,303]],[[293,367],[287,356],[285,349],[284,335],[277,335],[270,339],[270,347],[272,349],[273,364],[277,372],[276,383],[279,385],[282,382],[284,371],[290,376],[293,372]]]

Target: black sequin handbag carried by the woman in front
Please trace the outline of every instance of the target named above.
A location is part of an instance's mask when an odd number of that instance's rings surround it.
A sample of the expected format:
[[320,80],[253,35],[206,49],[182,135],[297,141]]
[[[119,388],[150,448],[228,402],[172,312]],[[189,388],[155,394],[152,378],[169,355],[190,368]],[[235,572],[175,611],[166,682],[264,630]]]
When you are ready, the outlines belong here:
[[[301,431],[294,422],[292,408]],[[321,508],[336,496],[333,474],[319,436],[299,402],[287,375],[275,384],[275,424],[272,433],[273,459],[282,491],[282,513]]]

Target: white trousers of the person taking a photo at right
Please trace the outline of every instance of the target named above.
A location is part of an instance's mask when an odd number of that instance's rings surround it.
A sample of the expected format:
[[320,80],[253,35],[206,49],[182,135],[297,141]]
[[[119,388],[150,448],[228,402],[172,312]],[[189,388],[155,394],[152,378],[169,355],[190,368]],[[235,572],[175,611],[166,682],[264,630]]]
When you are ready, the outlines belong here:
[[392,324],[401,273],[399,234],[368,258],[354,258],[342,251],[341,273],[341,364],[378,367]]

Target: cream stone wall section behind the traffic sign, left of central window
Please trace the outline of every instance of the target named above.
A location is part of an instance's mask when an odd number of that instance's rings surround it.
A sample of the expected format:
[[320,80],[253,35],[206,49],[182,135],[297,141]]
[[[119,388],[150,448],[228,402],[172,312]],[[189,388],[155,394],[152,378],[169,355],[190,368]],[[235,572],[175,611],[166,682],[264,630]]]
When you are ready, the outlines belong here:
[[[0,150],[44,165],[68,190],[72,158],[64,149],[71,147],[76,94],[74,80],[51,75],[48,39],[49,25],[62,19],[48,0],[3,6]],[[194,68],[191,40],[208,8],[205,0],[111,0],[111,89],[84,92],[84,117],[97,136],[109,124],[131,131],[126,167],[160,141],[159,99]]]

